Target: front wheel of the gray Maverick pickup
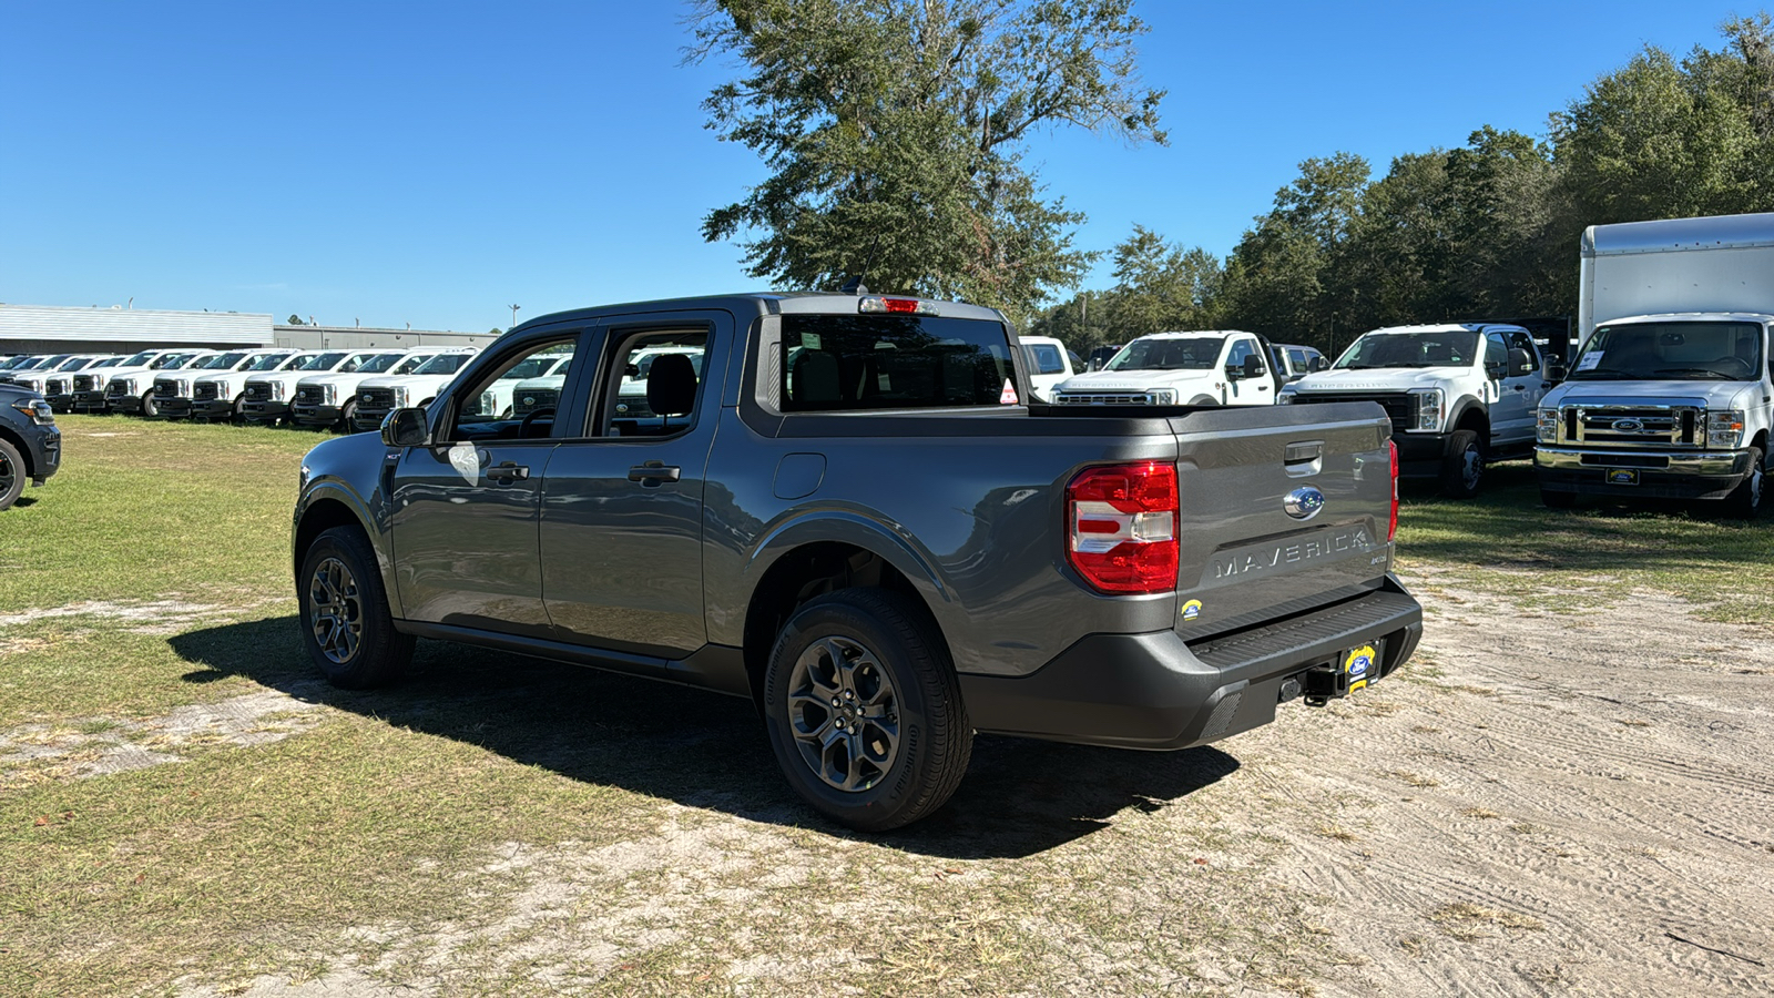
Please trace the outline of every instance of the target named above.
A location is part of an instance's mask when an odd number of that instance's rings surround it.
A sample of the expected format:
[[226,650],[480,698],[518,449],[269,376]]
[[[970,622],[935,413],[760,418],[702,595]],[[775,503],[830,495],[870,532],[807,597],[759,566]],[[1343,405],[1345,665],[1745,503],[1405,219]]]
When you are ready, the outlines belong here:
[[328,682],[385,685],[413,657],[413,638],[394,629],[376,552],[357,527],[323,531],[302,556],[296,600],[302,641]]

